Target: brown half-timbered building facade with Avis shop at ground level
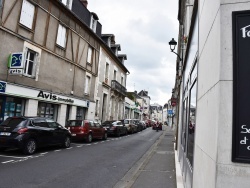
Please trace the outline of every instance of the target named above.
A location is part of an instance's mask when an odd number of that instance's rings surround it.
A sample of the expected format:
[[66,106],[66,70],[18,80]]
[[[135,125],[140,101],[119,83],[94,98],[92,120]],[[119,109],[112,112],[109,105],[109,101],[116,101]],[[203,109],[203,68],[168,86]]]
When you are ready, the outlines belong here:
[[[102,41],[75,12],[77,2],[0,1],[1,121],[94,118]],[[90,23],[93,14],[86,13]]]

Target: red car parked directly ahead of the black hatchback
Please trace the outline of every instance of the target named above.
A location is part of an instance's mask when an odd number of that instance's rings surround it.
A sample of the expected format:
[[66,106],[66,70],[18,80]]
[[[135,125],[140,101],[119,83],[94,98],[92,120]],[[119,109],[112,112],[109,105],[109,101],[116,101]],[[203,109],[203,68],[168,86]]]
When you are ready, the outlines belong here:
[[107,139],[107,130],[100,123],[92,120],[69,120],[66,128],[70,130],[73,140]]

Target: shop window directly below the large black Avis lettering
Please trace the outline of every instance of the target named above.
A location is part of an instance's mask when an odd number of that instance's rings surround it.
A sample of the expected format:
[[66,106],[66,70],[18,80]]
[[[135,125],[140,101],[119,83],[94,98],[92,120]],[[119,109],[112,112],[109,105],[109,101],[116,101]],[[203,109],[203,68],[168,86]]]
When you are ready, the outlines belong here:
[[39,117],[47,117],[56,121],[58,112],[58,105],[39,102],[37,116]]

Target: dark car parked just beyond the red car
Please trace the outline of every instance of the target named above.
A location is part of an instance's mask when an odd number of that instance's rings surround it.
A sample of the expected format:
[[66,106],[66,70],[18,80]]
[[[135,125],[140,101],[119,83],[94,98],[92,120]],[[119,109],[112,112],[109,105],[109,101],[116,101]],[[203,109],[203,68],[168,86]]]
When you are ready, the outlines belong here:
[[120,135],[128,134],[127,128],[121,121],[105,121],[102,123],[102,126],[107,129],[108,135],[115,135],[119,137]]

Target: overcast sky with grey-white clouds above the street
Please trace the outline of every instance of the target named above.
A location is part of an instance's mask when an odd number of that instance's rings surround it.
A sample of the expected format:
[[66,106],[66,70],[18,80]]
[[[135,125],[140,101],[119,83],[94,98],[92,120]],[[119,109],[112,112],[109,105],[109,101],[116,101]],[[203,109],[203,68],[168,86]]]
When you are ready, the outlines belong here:
[[102,24],[102,34],[114,34],[119,54],[126,54],[130,72],[127,91],[148,91],[150,103],[171,98],[176,55],[168,42],[178,37],[176,0],[88,0]]

